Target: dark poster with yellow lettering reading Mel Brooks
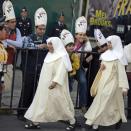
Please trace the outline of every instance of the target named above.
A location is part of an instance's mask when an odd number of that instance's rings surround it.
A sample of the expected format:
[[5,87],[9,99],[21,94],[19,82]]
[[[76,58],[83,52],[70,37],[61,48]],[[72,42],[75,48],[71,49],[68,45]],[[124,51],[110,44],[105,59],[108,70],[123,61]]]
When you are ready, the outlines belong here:
[[112,26],[114,17],[131,14],[131,0],[89,0],[88,24]]

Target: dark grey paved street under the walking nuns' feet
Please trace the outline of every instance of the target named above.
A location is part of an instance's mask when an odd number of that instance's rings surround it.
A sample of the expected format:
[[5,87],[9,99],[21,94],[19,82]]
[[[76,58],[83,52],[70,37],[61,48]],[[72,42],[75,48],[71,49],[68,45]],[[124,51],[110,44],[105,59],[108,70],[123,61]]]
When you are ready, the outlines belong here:
[[[78,117],[78,120],[82,123],[83,119]],[[41,131],[64,131],[66,127],[65,123],[48,123],[41,124]],[[123,124],[119,131],[130,131],[131,130],[131,120],[128,123]],[[0,115],[0,131],[27,131],[24,128],[24,122],[17,120],[15,115]],[[30,129],[30,131],[34,131]],[[75,131],[91,131],[91,129],[76,128]],[[116,131],[114,126],[111,127],[100,127],[100,131]]]

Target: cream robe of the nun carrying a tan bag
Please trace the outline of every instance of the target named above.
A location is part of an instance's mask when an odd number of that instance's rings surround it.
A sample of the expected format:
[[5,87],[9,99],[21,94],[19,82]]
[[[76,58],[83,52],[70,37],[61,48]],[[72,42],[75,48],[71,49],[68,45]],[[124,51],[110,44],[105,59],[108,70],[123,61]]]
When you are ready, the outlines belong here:
[[127,122],[122,96],[122,90],[129,88],[125,67],[118,60],[103,64],[106,68],[100,73],[99,81],[95,81],[97,84],[94,84],[98,89],[97,94],[85,114],[88,125],[109,126],[120,119]]

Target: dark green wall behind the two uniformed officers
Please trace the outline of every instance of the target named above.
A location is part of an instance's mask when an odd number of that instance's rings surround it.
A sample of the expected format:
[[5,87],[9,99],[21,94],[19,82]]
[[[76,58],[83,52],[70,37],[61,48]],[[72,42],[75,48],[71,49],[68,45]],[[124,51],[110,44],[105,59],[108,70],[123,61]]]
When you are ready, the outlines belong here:
[[[72,15],[72,4],[76,1],[75,4],[75,14]],[[74,32],[74,21],[77,18],[79,11],[79,0],[12,0],[12,3],[15,8],[16,15],[19,15],[20,9],[23,6],[26,6],[30,13],[30,18],[34,22],[34,13],[39,7],[44,7],[48,14],[48,24],[47,24],[47,34],[52,28],[52,23],[57,20],[58,15],[61,11],[65,14],[65,22],[68,26],[68,29]],[[74,19],[73,19],[74,18]]]

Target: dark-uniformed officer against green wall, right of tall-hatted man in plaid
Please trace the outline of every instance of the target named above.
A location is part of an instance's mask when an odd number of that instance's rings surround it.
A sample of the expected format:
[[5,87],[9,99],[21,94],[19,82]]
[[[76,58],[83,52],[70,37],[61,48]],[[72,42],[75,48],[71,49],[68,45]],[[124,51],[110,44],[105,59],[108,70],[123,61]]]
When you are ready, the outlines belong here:
[[64,23],[65,17],[63,12],[60,14],[59,19],[57,22],[54,23],[53,29],[51,31],[51,36],[60,37],[60,33],[63,29],[67,29],[66,24]]

